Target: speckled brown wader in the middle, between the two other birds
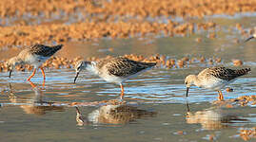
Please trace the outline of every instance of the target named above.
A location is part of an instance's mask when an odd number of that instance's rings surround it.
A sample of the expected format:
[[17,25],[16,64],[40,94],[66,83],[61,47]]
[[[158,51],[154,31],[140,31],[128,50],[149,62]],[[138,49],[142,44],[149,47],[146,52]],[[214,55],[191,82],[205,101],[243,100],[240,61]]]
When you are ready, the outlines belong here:
[[80,71],[86,69],[95,75],[98,75],[103,80],[120,84],[122,91],[120,98],[123,98],[124,87],[122,83],[125,80],[136,77],[155,65],[155,62],[135,62],[124,57],[104,59],[99,62],[79,61],[75,65],[76,77],[74,82]]

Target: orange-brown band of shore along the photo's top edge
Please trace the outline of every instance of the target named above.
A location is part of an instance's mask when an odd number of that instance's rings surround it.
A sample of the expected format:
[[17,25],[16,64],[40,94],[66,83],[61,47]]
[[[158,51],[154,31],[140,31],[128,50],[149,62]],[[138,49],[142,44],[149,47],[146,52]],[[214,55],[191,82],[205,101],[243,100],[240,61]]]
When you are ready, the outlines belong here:
[[[136,4],[136,5],[135,5]],[[233,15],[238,12],[256,11],[256,1],[246,0],[1,0],[0,17],[21,17],[26,13],[38,16],[40,13],[67,14],[77,10],[89,14],[119,16],[177,16],[204,17],[213,14]]]

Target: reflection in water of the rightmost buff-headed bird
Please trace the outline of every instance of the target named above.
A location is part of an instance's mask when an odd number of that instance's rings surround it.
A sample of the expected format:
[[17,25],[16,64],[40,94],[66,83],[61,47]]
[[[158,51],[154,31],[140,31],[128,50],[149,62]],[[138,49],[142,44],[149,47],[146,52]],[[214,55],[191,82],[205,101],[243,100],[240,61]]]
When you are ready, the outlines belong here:
[[231,113],[231,110],[225,109],[224,107],[211,107],[203,111],[191,113],[189,104],[187,103],[186,105],[187,123],[200,123],[202,128],[206,130],[219,130],[230,127],[231,124],[248,122],[242,115]]

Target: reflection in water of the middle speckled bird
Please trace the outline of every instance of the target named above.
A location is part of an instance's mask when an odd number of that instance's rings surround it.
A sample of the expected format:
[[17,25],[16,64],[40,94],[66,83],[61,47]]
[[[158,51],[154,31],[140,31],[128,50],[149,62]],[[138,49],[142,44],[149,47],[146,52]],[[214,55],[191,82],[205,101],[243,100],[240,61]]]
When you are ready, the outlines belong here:
[[76,122],[78,126],[88,124],[127,124],[136,119],[154,117],[156,112],[139,109],[135,106],[122,104],[107,104],[84,117],[76,107]]

